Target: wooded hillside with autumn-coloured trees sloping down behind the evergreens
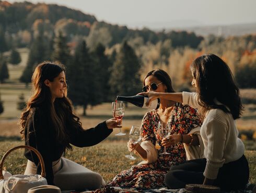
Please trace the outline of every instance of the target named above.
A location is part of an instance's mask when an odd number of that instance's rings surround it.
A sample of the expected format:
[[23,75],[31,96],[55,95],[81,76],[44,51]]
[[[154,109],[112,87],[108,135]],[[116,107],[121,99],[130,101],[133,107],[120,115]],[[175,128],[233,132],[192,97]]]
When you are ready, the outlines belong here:
[[89,47],[98,42],[104,46],[112,46],[124,40],[141,38],[143,43],[153,44],[169,39],[172,47],[189,46],[195,49],[203,40],[203,37],[193,32],[155,32],[147,28],[132,30],[126,26],[99,22],[95,16],[55,4],[11,4],[0,1],[0,34],[4,34],[5,38],[1,40],[0,37],[0,42],[6,42],[6,48],[2,51],[7,51],[12,46],[30,46],[35,34],[41,33],[51,39],[59,31],[63,32],[69,42],[86,38]]

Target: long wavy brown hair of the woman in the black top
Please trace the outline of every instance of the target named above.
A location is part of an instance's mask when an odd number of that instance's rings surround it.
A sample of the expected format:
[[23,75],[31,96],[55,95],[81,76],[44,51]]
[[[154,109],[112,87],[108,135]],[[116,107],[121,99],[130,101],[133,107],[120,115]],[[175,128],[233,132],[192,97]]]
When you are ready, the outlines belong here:
[[33,93],[27,102],[25,109],[21,113],[20,120],[20,134],[24,139],[24,128],[29,120],[32,118],[30,115],[33,107],[42,107],[49,111],[50,124],[53,125],[56,134],[56,140],[61,143],[65,149],[72,149],[69,144],[68,128],[66,125],[72,127],[82,128],[79,122],[79,117],[73,114],[71,101],[66,97],[56,98],[54,102],[51,99],[51,92],[49,87],[44,84],[45,80],[53,81],[54,78],[64,71],[65,68],[62,64],[51,62],[43,62],[39,64],[34,70],[32,76]]

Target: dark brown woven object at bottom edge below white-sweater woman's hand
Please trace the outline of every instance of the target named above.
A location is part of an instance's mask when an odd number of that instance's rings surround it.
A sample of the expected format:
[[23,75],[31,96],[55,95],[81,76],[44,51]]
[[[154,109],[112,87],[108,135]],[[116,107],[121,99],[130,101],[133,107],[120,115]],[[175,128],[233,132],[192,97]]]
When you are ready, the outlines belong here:
[[217,193],[220,188],[217,186],[203,185],[203,184],[187,184],[185,186],[187,193]]

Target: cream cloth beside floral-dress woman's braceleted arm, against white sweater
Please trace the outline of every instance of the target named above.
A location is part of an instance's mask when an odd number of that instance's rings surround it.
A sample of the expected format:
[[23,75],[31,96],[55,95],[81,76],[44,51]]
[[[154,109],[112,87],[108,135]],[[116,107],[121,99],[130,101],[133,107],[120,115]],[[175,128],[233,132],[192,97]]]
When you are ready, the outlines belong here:
[[194,160],[204,158],[204,143],[203,139],[200,135],[200,128],[196,127],[192,129],[189,134],[196,135],[199,139],[199,146],[188,146],[187,143],[183,143],[185,151],[186,151],[186,159]]

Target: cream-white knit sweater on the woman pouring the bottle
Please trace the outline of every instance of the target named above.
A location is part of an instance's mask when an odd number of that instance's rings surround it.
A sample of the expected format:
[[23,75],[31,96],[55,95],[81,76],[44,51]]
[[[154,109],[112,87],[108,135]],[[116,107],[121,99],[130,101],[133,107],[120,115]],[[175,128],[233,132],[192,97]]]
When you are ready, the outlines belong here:
[[[183,104],[199,108],[197,93],[183,92]],[[238,138],[236,122],[230,113],[212,109],[200,130],[204,143],[204,156],[207,160],[204,176],[216,179],[218,170],[224,163],[236,161],[245,152],[243,142]]]

